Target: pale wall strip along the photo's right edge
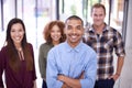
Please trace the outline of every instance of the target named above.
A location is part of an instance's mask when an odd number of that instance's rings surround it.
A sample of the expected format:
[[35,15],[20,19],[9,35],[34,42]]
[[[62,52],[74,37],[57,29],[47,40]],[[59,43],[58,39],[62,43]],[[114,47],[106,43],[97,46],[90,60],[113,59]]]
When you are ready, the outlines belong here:
[[124,66],[120,77],[120,88],[132,88],[132,0],[129,0],[125,53]]

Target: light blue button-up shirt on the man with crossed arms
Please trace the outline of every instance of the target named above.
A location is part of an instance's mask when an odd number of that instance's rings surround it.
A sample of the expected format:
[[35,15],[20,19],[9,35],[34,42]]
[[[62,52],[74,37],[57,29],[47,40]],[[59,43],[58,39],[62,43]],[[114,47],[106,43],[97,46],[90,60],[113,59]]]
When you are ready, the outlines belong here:
[[63,82],[57,75],[63,74],[70,78],[79,78],[81,88],[94,88],[97,73],[97,55],[88,45],[80,42],[75,48],[67,42],[53,47],[47,55],[46,82],[48,88],[62,88]]

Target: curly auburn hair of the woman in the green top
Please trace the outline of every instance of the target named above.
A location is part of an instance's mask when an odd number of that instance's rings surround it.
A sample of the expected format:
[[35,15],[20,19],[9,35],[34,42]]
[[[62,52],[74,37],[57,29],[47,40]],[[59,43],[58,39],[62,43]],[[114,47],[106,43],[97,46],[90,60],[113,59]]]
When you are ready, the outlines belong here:
[[61,30],[61,34],[62,34],[62,37],[59,40],[59,43],[64,42],[66,40],[66,36],[64,34],[64,28],[65,28],[65,24],[64,22],[62,21],[52,21],[50,23],[47,23],[44,28],[44,32],[43,32],[43,35],[44,35],[44,40],[46,41],[46,43],[48,44],[52,44],[53,40],[51,37],[51,30],[54,25],[57,25]]

